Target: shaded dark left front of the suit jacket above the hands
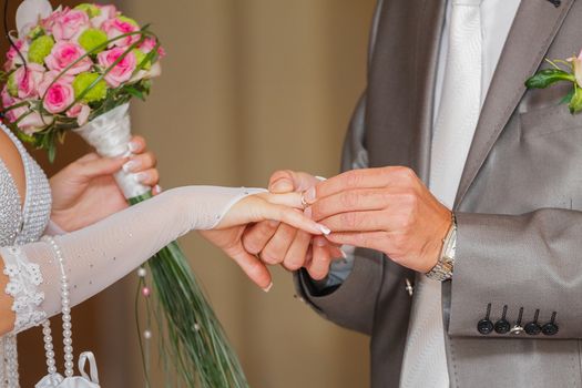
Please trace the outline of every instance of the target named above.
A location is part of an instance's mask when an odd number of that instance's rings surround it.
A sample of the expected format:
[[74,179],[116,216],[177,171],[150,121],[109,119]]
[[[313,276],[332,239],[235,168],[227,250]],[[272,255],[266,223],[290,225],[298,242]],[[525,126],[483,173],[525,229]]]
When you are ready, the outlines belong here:
[[384,1],[368,81],[370,166],[406,165],[428,178],[445,6],[446,0]]

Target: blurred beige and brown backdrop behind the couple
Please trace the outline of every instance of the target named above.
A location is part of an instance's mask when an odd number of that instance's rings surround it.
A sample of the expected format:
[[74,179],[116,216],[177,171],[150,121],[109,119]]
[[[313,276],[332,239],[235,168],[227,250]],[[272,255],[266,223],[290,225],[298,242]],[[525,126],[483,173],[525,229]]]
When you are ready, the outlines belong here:
[[[118,3],[140,22],[152,22],[167,51],[151,98],[133,106],[134,131],[157,153],[164,188],[265,186],[277,169],[337,173],[345,130],[365,86],[375,0]],[[85,152],[74,144],[61,164]],[[264,294],[195,234],[182,245],[251,386],[369,386],[368,339],[295,299],[289,274],[275,268],[275,286]],[[106,388],[143,386],[134,280],[130,276],[73,316],[75,349],[95,349]],[[40,333],[20,341],[23,387],[42,372],[42,353],[35,351],[41,341]]]

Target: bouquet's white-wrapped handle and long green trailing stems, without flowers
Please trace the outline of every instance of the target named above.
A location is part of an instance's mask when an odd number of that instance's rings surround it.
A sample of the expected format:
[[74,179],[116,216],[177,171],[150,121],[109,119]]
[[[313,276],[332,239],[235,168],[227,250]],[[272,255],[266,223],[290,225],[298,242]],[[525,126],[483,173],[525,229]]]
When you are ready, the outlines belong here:
[[[74,132],[102,156],[129,156],[129,108],[127,103],[116,106]],[[130,205],[152,197],[150,187],[124,171],[115,174],[115,181]],[[160,356],[164,365],[170,366],[165,368],[167,376],[191,388],[248,387],[236,354],[177,243],[162,248],[147,266],[156,298]]]

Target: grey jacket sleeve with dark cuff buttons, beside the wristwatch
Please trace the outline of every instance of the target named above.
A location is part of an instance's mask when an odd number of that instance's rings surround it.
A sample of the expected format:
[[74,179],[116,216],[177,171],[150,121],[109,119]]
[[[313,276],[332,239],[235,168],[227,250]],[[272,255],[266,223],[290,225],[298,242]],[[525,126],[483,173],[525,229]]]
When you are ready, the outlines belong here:
[[483,319],[498,323],[507,308],[510,326],[525,329],[521,338],[582,338],[581,212],[460,213],[457,219],[451,336],[508,337],[510,334],[483,334],[478,328]]

